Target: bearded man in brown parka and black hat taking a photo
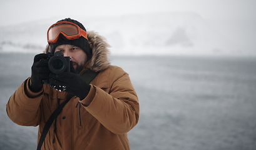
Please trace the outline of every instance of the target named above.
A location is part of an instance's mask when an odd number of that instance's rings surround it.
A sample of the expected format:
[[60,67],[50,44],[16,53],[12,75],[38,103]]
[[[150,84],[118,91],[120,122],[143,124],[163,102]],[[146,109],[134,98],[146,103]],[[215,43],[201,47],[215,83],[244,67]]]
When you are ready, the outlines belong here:
[[[53,74],[45,53],[58,51],[70,57],[70,71]],[[66,18],[49,27],[45,53],[34,57],[31,77],[10,97],[9,118],[39,125],[39,140],[49,116],[72,94],[41,149],[130,149],[127,133],[138,123],[138,98],[128,74],[110,65],[105,39]],[[98,73],[90,84],[82,77],[88,69]]]

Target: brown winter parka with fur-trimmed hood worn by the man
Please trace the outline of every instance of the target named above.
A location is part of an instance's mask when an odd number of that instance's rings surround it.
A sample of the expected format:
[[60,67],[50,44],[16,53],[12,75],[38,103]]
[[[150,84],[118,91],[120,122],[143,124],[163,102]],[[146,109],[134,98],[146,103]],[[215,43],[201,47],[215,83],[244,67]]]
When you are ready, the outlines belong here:
[[[73,97],[64,106],[41,149],[130,149],[127,133],[139,118],[135,89],[123,69],[110,65],[105,39],[89,31],[88,41],[93,55],[81,74],[87,69],[100,73],[91,81],[86,98]],[[44,53],[48,51],[46,47]],[[39,125],[39,138],[44,124],[58,104],[66,99],[67,93],[56,91],[47,84],[38,93],[33,93],[29,81],[30,78],[26,79],[9,98],[6,111],[16,124]],[[88,101],[90,104],[86,106]]]

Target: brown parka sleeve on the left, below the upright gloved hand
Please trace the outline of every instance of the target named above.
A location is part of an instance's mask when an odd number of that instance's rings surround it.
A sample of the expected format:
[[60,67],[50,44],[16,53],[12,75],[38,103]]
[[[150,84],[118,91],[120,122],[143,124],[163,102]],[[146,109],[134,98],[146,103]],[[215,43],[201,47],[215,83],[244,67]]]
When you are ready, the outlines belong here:
[[[26,79],[21,86],[9,98],[6,104],[6,112],[9,118],[21,126],[38,126],[43,90],[33,93],[29,90],[29,79]],[[30,97],[29,97],[30,96]]]

